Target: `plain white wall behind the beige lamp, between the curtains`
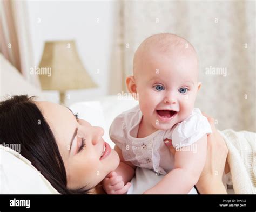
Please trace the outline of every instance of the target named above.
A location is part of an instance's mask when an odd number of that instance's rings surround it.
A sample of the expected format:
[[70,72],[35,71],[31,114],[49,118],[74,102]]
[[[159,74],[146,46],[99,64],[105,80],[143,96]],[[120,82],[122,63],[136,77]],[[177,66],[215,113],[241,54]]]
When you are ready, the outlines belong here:
[[[107,94],[116,2],[28,1],[28,12],[35,64],[41,60],[46,40],[74,39],[84,67],[99,86],[68,92],[66,104]],[[56,93],[49,96],[55,101]]]

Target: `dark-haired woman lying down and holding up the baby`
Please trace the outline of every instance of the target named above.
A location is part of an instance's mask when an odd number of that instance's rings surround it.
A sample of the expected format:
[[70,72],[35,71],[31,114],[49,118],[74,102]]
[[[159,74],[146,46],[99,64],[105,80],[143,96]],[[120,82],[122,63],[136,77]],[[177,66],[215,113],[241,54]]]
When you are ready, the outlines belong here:
[[[227,147],[213,119],[208,120],[213,133],[208,136],[207,161],[196,187],[201,194],[226,194],[221,176],[214,173],[223,173]],[[117,168],[119,157],[103,134],[102,128],[58,104],[26,95],[0,102],[0,144],[20,144],[22,156],[62,194],[104,193],[101,183]]]

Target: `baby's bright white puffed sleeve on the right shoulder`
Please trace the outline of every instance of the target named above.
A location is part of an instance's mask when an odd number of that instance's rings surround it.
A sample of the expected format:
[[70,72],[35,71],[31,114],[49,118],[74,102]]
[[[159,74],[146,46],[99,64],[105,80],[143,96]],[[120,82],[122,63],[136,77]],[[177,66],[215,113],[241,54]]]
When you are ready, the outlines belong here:
[[201,114],[198,108],[194,108],[192,115],[174,128],[172,144],[175,148],[188,146],[210,133],[212,133],[212,129],[207,118]]

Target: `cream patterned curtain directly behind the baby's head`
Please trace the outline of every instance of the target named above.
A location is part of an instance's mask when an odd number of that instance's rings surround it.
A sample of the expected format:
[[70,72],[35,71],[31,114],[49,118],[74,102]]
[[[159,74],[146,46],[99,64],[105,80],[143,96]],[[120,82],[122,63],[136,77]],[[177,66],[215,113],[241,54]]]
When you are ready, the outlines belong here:
[[133,54],[146,37],[178,34],[199,55],[203,86],[196,107],[213,116],[218,129],[255,131],[254,1],[122,1],[120,5],[123,77],[132,73]]

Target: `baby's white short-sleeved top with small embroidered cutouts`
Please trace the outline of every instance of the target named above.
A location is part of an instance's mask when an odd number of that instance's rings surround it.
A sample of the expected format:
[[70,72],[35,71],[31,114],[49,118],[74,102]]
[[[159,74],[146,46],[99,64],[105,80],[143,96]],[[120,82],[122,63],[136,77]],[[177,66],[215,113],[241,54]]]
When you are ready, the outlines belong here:
[[110,138],[122,150],[125,161],[157,174],[167,174],[174,166],[174,156],[164,144],[165,139],[171,139],[173,146],[180,148],[212,133],[207,118],[194,108],[189,117],[170,130],[157,130],[145,138],[137,138],[142,116],[139,105],[118,115],[110,126]]

